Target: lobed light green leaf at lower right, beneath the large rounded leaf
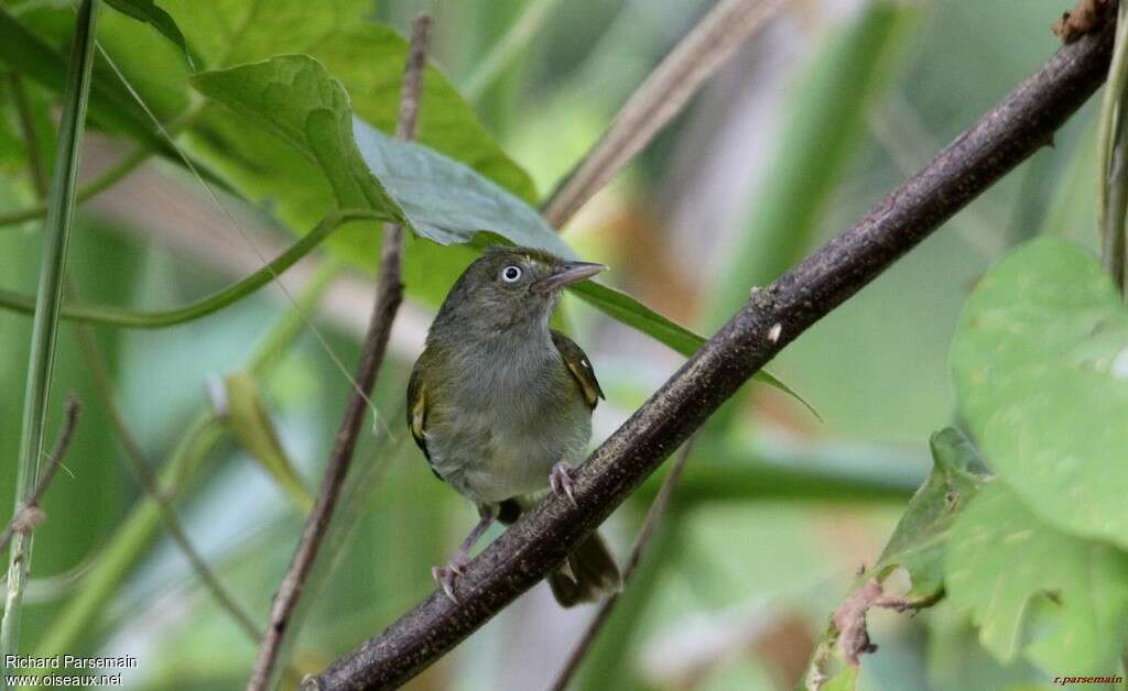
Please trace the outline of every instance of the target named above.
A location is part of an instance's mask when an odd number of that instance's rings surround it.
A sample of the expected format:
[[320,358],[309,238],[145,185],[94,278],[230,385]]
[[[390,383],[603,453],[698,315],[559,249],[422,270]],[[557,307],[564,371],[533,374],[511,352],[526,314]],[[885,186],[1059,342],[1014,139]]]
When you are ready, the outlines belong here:
[[1054,674],[1119,668],[1128,555],[1055,529],[1004,482],[985,485],[957,520],[945,576],[948,596],[970,610],[998,659],[1024,650]]

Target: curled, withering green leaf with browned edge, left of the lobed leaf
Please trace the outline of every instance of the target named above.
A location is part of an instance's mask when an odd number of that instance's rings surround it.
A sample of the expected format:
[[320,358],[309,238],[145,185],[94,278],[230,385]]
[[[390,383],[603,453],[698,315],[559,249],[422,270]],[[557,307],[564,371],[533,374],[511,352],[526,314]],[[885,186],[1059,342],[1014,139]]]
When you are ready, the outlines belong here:
[[874,570],[895,567],[909,573],[913,587],[907,597],[934,597],[944,587],[944,553],[949,533],[960,511],[976,495],[985,468],[975,446],[958,429],[948,427],[932,435],[932,475],[913,495]]

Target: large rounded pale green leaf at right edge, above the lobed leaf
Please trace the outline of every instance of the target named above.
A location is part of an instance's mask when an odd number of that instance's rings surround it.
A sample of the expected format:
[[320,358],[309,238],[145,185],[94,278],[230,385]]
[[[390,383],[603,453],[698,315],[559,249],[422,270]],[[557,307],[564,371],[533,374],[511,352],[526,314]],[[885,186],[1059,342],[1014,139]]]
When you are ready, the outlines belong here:
[[960,413],[1042,520],[1128,546],[1128,310],[1083,250],[1012,253],[979,282],[952,344]]

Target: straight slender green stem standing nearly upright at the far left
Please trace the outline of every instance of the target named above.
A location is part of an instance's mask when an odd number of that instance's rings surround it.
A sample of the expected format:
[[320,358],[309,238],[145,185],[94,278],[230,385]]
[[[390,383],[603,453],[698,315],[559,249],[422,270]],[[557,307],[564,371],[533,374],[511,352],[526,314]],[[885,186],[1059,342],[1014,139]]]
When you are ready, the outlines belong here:
[[[51,197],[47,200],[39,289],[32,324],[32,347],[16,476],[16,511],[19,511],[20,504],[34,491],[39,472],[43,427],[46,422],[51,372],[54,365],[59,308],[62,303],[62,284],[67,269],[67,245],[74,211],[74,186],[90,92],[95,26],[99,7],[98,0],[83,0],[78,10],[74,44],[71,48],[56,143],[55,170],[51,181]],[[12,542],[3,620],[0,621],[0,655],[16,654],[19,649],[19,619],[24,588],[30,570],[32,542],[30,533],[19,533]]]

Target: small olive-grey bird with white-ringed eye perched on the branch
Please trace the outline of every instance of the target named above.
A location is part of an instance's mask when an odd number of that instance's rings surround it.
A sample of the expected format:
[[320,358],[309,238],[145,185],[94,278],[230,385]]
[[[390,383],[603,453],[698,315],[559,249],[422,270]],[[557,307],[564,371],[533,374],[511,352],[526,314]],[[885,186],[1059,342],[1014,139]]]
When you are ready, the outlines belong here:
[[[607,268],[520,247],[494,248],[450,289],[407,384],[407,426],[431,469],[482,520],[431,575],[448,597],[494,520],[510,524],[546,487],[572,503],[603,397],[591,361],[548,328],[566,285]],[[615,559],[592,533],[548,577],[557,602],[594,602],[619,587]]]

